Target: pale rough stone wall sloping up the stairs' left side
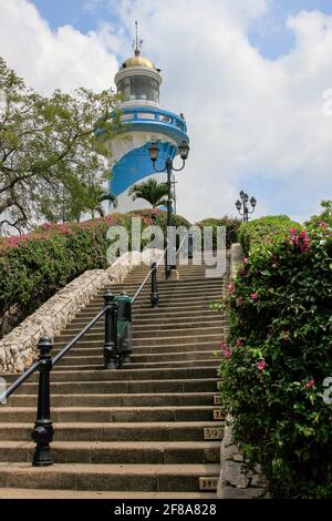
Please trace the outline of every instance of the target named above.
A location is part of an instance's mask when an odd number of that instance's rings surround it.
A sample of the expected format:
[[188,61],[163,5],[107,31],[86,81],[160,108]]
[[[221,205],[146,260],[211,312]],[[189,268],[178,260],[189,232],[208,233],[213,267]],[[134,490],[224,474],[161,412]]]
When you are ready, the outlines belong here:
[[160,254],[155,249],[145,251],[144,254],[129,252],[107,269],[87,270],[72,280],[0,340],[0,372],[22,372],[30,367],[41,336],[59,335],[98,289],[123,282],[135,265],[142,260],[153,262]]

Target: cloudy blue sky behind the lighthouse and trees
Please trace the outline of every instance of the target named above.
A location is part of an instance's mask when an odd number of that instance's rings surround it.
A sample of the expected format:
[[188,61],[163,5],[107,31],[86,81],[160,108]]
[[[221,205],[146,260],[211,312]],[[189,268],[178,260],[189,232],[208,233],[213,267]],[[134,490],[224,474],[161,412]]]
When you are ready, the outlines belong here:
[[160,103],[183,112],[190,156],[178,213],[303,221],[332,198],[332,0],[0,0],[0,54],[39,92],[114,86],[132,54],[160,69]]

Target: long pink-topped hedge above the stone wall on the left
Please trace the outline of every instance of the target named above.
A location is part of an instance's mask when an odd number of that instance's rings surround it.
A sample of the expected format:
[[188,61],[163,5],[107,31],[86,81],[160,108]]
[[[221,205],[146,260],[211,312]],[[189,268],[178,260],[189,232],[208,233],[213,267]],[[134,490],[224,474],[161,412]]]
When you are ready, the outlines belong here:
[[[105,268],[110,226],[123,225],[131,237],[132,216],[143,228],[164,227],[165,212],[112,214],[83,223],[44,224],[29,235],[0,238],[0,337],[86,269]],[[175,223],[189,225],[180,216]]]

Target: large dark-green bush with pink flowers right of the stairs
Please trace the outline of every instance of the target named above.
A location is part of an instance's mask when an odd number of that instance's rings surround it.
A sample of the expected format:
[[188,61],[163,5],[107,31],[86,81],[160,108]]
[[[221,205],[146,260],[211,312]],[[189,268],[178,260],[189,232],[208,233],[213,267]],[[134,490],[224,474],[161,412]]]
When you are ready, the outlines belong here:
[[256,247],[228,288],[221,399],[277,498],[332,497],[332,219]]

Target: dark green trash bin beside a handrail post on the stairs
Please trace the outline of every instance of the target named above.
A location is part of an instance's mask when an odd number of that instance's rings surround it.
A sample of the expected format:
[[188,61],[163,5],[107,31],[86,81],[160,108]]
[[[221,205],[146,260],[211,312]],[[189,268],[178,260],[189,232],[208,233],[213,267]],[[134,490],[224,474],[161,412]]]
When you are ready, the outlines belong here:
[[117,356],[118,367],[131,362],[133,353],[132,297],[122,293],[115,297],[117,303]]

